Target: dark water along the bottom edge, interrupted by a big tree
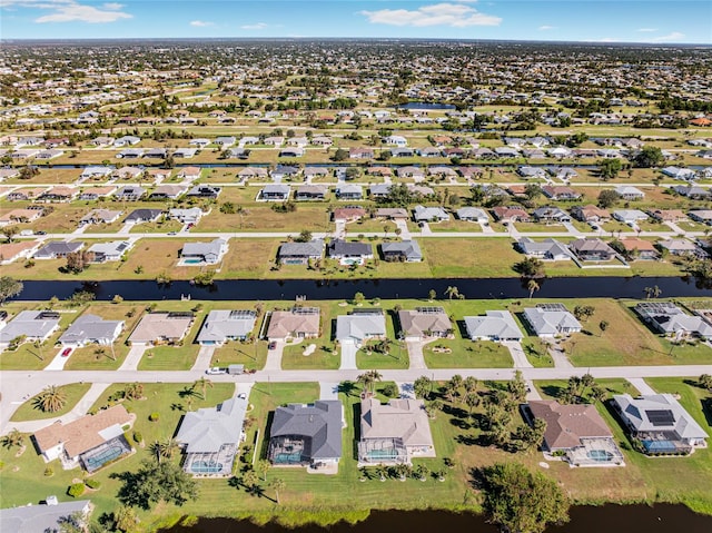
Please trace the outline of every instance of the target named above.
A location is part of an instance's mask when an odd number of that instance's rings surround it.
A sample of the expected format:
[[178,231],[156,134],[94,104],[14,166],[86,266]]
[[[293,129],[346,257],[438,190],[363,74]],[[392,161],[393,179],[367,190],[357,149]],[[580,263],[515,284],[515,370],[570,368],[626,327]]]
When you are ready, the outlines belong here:
[[[710,533],[712,516],[695,514],[684,505],[602,505],[578,506],[571,510],[571,521],[552,526],[546,533]],[[378,511],[356,525],[338,523],[330,527],[305,525],[294,530],[269,523],[264,526],[246,521],[228,519],[200,519],[194,526],[175,526],[161,530],[164,533],[382,533],[408,532],[433,533],[476,532],[498,533],[498,529],[487,524],[475,514],[455,514],[444,511]]]

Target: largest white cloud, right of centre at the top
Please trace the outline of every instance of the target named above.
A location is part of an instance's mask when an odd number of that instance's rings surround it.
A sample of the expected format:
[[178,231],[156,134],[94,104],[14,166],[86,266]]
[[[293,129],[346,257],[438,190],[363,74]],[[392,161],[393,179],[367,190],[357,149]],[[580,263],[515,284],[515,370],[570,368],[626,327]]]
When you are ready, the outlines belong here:
[[492,14],[481,13],[476,9],[463,3],[435,3],[423,6],[416,10],[379,9],[378,11],[359,11],[372,24],[414,26],[449,26],[466,28],[469,26],[500,26],[502,19]]

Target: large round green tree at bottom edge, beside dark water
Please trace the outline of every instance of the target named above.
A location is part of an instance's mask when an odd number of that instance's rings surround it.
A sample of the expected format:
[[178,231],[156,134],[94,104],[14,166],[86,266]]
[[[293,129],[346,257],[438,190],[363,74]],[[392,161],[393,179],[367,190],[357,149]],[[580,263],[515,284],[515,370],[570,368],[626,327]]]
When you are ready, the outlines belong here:
[[568,501],[555,481],[520,463],[496,463],[482,470],[488,520],[502,529],[543,533],[548,524],[568,521]]

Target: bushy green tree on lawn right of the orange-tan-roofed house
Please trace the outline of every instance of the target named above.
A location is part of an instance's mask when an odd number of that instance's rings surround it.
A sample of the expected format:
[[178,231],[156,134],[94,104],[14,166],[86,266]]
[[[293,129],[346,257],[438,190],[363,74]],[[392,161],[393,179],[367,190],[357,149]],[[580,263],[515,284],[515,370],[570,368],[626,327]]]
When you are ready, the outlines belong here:
[[158,463],[146,460],[136,473],[125,472],[117,477],[123,482],[118,493],[119,501],[144,510],[160,502],[180,506],[197,499],[199,493],[198,483],[171,461]]

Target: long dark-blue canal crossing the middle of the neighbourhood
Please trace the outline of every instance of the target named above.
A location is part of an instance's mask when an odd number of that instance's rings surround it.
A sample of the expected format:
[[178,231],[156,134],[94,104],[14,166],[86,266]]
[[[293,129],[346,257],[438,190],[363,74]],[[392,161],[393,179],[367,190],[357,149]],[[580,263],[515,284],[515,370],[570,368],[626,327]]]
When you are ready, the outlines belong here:
[[[712,287],[702,287],[691,278],[681,277],[560,277],[538,280],[537,298],[642,298],[645,288],[657,286],[661,296],[712,297]],[[90,290],[98,300],[110,300],[120,295],[127,300],[191,299],[207,300],[275,300],[347,299],[363,293],[366,298],[407,299],[426,298],[431,289],[444,296],[449,286],[457,287],[467,299],[526,298],[526,282],[518,278],[461,278],[461,279],[221,279],[206,287],[190,282],[159,285],[154,280],[116,282],[24,282],[17,299],[60,299],[79,290]]]

